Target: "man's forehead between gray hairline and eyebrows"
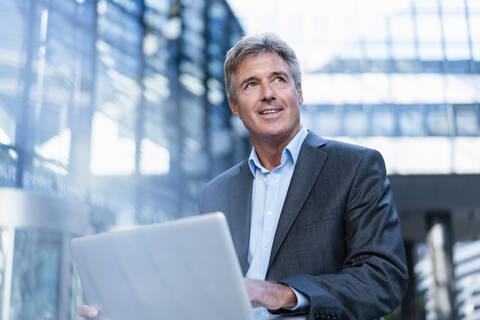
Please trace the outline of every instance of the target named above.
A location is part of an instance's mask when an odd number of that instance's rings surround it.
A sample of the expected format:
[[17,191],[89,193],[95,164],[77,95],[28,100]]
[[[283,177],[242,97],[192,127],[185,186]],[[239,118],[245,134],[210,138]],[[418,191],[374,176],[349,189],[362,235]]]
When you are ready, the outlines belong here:
[[287,62],[276,53],[266,52],[245,57],[235,72],[236,80],[249,77],[267,76],[274,72],[284,72],[289,77],[292,73]]

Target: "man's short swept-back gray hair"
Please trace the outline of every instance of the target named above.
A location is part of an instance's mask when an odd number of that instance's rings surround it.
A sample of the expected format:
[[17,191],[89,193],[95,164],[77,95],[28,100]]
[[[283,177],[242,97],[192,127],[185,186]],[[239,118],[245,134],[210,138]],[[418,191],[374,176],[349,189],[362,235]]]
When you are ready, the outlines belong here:
[[236,103],[235,71],[240,63],[247,57],[257,56],[262,53],[275,53],[281,57],[290,68],[298,89],[302,84],[302,71],[297,55],[290,46],[273,33],[244,36],[233,48],[228,50],[223,66],[225,72],[225,85],[227,97]]

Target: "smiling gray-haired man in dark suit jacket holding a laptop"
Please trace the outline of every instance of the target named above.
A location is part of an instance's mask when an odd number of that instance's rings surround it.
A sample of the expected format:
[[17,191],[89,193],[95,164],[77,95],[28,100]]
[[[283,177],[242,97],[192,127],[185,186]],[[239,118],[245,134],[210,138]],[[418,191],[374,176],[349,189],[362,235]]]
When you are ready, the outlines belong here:
[[408,279],[381,155],[301,126],[299,63],[277,36],[239,41],[225,77],[253,150],[207,184],[200,212],[225,214],[256,318],[267,309],[309,319],[393,311]]

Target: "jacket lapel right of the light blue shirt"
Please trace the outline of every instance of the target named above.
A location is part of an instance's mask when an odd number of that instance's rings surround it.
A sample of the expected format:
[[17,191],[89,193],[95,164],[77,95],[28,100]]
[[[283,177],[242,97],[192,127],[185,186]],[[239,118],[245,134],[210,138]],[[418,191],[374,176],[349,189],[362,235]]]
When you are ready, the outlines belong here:
[[270,268],[272,261],[275,259],[283,240],[310,194],[318,174],[322,170],[327,154],[320,150],[319,147],[325,143],[325,140],[311,132],[303,142],[273,239],[268,268]]

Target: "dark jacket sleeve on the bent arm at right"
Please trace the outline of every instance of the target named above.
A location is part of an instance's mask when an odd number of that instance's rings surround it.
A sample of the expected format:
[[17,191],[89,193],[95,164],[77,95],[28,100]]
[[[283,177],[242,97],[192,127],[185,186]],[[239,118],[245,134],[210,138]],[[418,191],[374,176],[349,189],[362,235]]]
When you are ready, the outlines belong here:
[[282,279],[304,293],[309,319],[375,319],[391,313],[408,283],[400,222],[380,153],[358,162],[344,212],[345,259],[335,274]]

